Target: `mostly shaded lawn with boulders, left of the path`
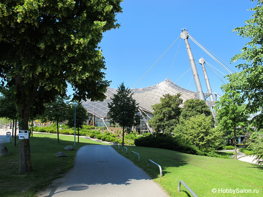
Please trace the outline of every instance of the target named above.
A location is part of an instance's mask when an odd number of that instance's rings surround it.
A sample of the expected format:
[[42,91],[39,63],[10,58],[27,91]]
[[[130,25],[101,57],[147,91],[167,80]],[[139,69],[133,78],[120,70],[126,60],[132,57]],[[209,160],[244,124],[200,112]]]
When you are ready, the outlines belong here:
[[[19,173],[19,143],[14,147],[13,143],[5,143],[9,155],[0,157],[0,196],[21,197],[34,196],[36,189],[43,189],[73,166],[77,150],[85,145],[103,144],[94,140],[79,138],[74,147],[74,136],[60,135],[58,144],[57,135],[33,134],[30,137],[31,162],[33,172]],[[13,142],[14,140],[11,140]],[[77,136],[76,136],[77,141]],[[19,142],[17,138],[17,142]],[[66,146],[73,146],[75,150],[64,151]],[[55,157],[56,152],[61,151],[67,157]],[[23,191],[21,193],[21,191]]]

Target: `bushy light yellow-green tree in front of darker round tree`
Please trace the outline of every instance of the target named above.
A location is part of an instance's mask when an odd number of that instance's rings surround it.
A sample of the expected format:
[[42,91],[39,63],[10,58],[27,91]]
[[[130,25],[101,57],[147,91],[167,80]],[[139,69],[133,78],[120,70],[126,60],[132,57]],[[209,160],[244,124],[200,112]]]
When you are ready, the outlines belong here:
[[199,114],[183,120],[174,129],[175,136],[180,136],[185,142],[190,142],[198,149],[217,147],[223,132],[214,128],[214,122],[209,116]]

